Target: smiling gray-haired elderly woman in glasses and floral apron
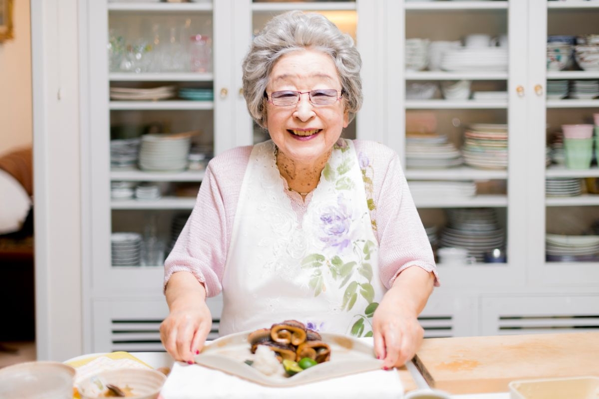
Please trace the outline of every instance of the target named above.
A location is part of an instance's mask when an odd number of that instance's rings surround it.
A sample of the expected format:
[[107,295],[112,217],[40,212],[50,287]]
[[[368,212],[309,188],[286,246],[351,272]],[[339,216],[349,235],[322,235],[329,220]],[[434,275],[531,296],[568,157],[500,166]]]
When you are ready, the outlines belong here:
[[419,348],[434,258],[397,154],[341,138],[360,68],[352,38],[320,14],[282,14],[254,39],[244,96],[271,140],[211,160],[165,262],[161,338],[177,360],[204,345],[205,298],[221,292],[221,335],[296,319],[373,336],[385,368]]

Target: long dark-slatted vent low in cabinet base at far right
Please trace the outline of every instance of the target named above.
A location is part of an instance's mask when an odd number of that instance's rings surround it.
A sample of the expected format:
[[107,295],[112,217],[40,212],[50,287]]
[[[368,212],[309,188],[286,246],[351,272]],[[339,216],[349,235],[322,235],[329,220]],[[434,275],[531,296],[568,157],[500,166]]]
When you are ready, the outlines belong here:
[[517,315],[500,316],[501,334],[580,333],[599,331],[599,314],[595,315]]

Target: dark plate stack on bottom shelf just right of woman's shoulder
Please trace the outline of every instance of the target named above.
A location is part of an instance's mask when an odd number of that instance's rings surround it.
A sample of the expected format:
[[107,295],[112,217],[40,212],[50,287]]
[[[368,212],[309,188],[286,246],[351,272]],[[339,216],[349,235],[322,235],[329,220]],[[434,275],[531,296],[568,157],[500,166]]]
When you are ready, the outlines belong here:
[[442,247],[467,248],[477,262],[495,248],[505,248],[504,230],[492,208],[448,209],[448,223],[440,237]]

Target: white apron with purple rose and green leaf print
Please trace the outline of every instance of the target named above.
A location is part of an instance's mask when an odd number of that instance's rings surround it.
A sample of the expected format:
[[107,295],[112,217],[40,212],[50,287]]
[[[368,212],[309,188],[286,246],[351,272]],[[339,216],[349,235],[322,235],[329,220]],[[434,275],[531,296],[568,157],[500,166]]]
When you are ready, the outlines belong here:
[[272,141],[255,145],[241,185],[222,279],[220,335],[296,319],[371,336],[385,288],[353,143],[340,139],[298,221]]

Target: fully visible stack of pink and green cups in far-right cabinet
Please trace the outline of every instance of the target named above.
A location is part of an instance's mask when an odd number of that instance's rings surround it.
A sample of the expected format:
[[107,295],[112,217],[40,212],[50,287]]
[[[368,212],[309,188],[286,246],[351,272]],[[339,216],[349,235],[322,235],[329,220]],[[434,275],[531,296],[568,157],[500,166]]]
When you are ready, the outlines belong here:
[[568,169],[589,169],[593,155],[593,125],[563,124],[565,165]]

